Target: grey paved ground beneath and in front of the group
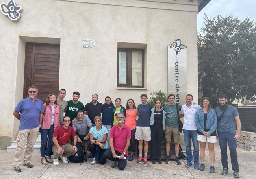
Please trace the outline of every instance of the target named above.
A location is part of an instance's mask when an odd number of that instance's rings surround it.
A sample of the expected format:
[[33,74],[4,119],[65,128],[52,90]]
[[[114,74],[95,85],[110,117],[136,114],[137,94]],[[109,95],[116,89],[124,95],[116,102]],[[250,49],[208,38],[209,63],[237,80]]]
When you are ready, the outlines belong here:
[[[254,179],[255,177],[255,159],[256,152],[247,151],[242,148],[237,148],[240,178]],[[186,153],[185,153],[186,154]],[[88,154],[87,154],[88,155]],[[209,153],[206,152],[206,168],[204,171],[195,170],[193,167],[186,168],[186,160],[181,161],[182,165],[178,166],[171,161],[169,164],[137,164],[135,157],[134,161],[128,161],[126,168],[120,171],[118,168],[111,168],[112,161],[107,160],[106,164],[91,165],[91,159],[83,164],[68,163],[63,164],[59,161],[58,166],[53,164],[42,165],[40,163],[40,154],[33,153],[32,164],[33,168],[21,166],[22,172],[15,173],[11,163],[13,162],[13,153],[6,153],[6,150],[0,150],[0,179],[69,179],[69,178],[88,178],[88,179],[234,179],[233,171],[230,169],[227,176],[221,175],[221,156],[219,145],[215,145],[215,173],[211,174]],[[229,158],[230,160],[230,158]],[[230,162],[229,162],[230,163]]]

